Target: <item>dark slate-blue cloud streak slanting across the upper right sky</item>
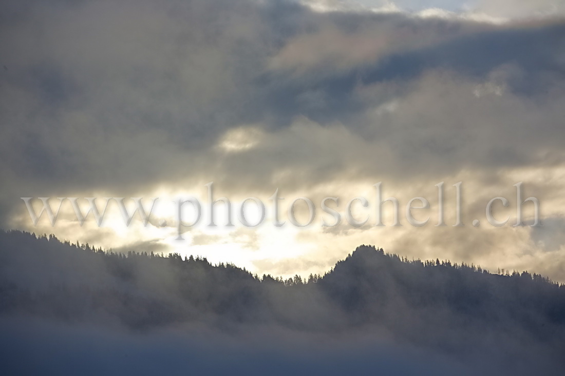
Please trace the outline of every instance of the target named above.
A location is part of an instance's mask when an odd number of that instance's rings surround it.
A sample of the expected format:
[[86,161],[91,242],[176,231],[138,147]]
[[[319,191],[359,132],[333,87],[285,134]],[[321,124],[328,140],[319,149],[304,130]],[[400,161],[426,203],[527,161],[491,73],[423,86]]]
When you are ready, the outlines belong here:
[[[383,22],[383,20],[376,19],[375,22]],[[401,22],[410,21],[406,19],[397,21],[397,23]],[[283,94],[279,94],[281,97],[288,96],[289,100],[295,98],[295,102],[299,102],[296,98],[298,93],[318,88],[324,90],[325,97],[332,99],[332,102],[329,103],[331,105],[323,109],[326,111],[324,113],[307,112],[306,107],[299,107],[303,103],[294,103],[295,107],[291,106],[292,110],[289,110],[284,106],[284,100],[282,100],[281,112],[286,110],[288,115],[302,113],[319,121],[334,120],[344,111],[345,115],[350,115],[352,112],[357,113],[362,110],[362,103],[351,103],[351,99],[355,98],[352,92],[356,86],[371,85],[382,81],[410,81],[429,70],[449,70],[484,80],[493,69],[503,64],[515,64],[525,75],[525,77],[511,77],[514,80],[509,82],[510,89],[515,93],[544,94],[548,91],[547,84],[551,84],[554,80],[558,80],[558,84],[563,85],[563,78],[565,78],[562,61],[562,49],[565,43],[564,23],[540,26],[523,25],[523,28],[491,28],[492,30],[488,31],[474,30],[474,33],[460,35],[462,25],[454,21],[425,22],[419,20],[413,22],[415,25],[411,26],[417,27],[420,32],[433,34],[444,31],[453,33],[454,36],[449,38],[449,41],[437,45],[418,46],[407,51],[386,55],[370,64],[363,64],[361,67],[348,69],[341,74],[334,74],[333,77],[323,76],[316,80],[319,73],[311,71],[306,71],[298,77],[293,75],[276,77],[275,75],[271,78],[273,81],[280,82],[281,85],[282,82],[294,85],[286,89],[287,93],[282,91]],[[418,25],[419,23],[423,25]],[[488,29],[488,27],[485,28]],[[540,82],[540,79],[544,77],[551,78],[551,82]],[[269,78],[265,80],[269,81]],[[275,98],[279,99],[279,97]],[[273,102],[279,103],[279,100],[273,100]],[[347,108],[348,104],[353,108]],[[273,105],[266,107],[280,109]]]

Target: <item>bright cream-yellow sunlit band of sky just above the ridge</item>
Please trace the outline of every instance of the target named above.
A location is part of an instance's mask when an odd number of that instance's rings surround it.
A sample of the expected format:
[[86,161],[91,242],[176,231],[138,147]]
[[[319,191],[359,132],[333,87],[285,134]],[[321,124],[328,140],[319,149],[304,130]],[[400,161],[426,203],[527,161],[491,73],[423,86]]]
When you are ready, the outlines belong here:
[[[494,185],[481,186],[481,182],[471,172],[462,172],[449,178],[445,184],[445,227],[437,227],[437,183],[438,181],[420,181],[418,179],[410,184],[398,184],[393,181],[383,183],[383,197],[394,196],[399,201],[400,222],[402,226],[393,226],[394,206],[385,202],[381,206],[385,226],[375,226],[376,190],[371,181],[334,181],[324,185],[312,186],[310,189],[278,191],[279,218],[275,218],[273,209],[273,194],[267,188],[255,190],[246,194],[238,190],[231,190],[229,186],[214,185],[214,224],[210,226],[210,203],[208,201],[208,186],[202,184],[193,186],[190,190],[177,190],[162,187],[153,194],[144,196],[143,205],[146,211],[151,208],[151,199],[158,198],[151,219],[144,226],[141,218],[136,213],[131,224],[127,226],[124,218],[114,202],[108,204],[108,211],[101,228],[98,228],[92,215],[88,217],[82,227],[76,220],[69,203],[63,204],[63,209],[55,227],[51,227],[44,216],[37,227],[30,225],[28,213],[22,212],[18,219],[19,228],[28,228],[36,233],[54,233],[62,239],[71,242],[89,242],[90,245],[113,248],[117,251],[147,251],[147,252],[175,252],[181,256],[204,256],[212,263],[234,263],[259,274],[275,274],[284,277],[293,276],[295,273],[324,273],[332,264],[342,259],[347,253],[359,244],[372,243],[386,247],[390,252],[401,252],[405,256],[423,259],[435,259],[437,256],[451,259],[462,259],[465,262],[481,264],[485,267],[504,265],[507,268],[521,268],[526,263],[532,263],[531,252],[523,253],[527,249],[537,249],[544,244],[536,243],[532,238],[532,229],[529,226],[512,228],[515,221],[516,190],[512,185],[517,178],[525,180],[524,199],[536,186],[541,183],[540,169],[516,169],[505,176],[499,176],[499,181]],[[542,176],[544,176],[542,174]],[[554,186],[559,189],[560,182],[565,181],[560,169],[547,169],[545,178],[551,179],[547,188]],[[447,179],[446,179],[447,181]],[[463,223],[464,227],[454,228],[457,222],[457,213],[454,211],[456,201],[455,189],[451,186],[457,181],[464,181],[463,188]],[[209,183],[208,183],[209,184]],[[189,186],[188,183],[186,186]],[[559,217],[565,202],[559,195],[551,195],[551,191],[540,196],[543,215],[545,217]],[[429,217],[429,222],[415,228],[407,223],[404,217],[405,206],[415,196],[422,196],[430,203],[428,210],[418,209],[412,215],[420,221]],[[496,196],[503,196],[511,203],[509,207],[502,204],[493,205],[493,215],[499,220],[510,217],[511,221],[504,227],[488,227],[483,219],[485,203]],[[105,200],[101,195],[97,200],[100,209]],[[176,223],[179,199],[196,198],[200,204],[200,216],[192,204],[181,206],[182,226],[179,240],[179,228]],[[221,198],[226,197],[231,203],[231,221],[228,221],[228,211]],[[261,220],[262,211],[253,200],[255,197],[264,204],[264,219]],[[312,223],[306,227],[292,225],[289,222],[288,208],[295,201],[294,213],[296,221],[306,224],[309,220],[308,206],[300,197],[308,198],[315,205],[315,216]],[[320,203],[324,198],[334,197],[337,203],[328,201],[329,207],[341,213],[341,222],[337,226],[322,226],[324,222],[333,224],[334,218],[321,210]],[[360,227],[351,226],[344,217],[346,204],[355,198],[366,198],[368,206],[364,207],[359,200],[351,204],[351,215],[357,221],[368,218],[367,223]],[[247,200],[246,200],[247,199]],[[250,226],[241,223],[240,208],[245,200],[244,218]],[[79,201],[83,213],[88,211],[88,202]],[[135,206],[131,199],[124,200],[128,213],[133,213]],[[40,202],[36,200],[36,212],[40,212]],[[51,206],[56,208],[56,200]],[[417,203],[415,204],[417,206]],[[22,205],[23,207],[23,205]],[[23,208],[24,209],[24,208]],[[524,205],[524,221],[531,224],[533,210]],[[472,225],[474,218],[481,218],[481,227]],[[198,221],[194,223],[196,220]],[[233,226],[227,226],[232,223]],[[254,226],[261,222],[260,225]],[[273,225],[285,222],[282,226]],[[477,236],[479,235],[479,236]],[[545,239],[547,235],[540,233],[538,239]],[[462,239],[467,242],[463,247]],[[538,240],[539,241],[539,240]],[[496,247],[498,252],[492,252]],[[462,249],[459,249],[462,248]],[[472,248],[472,250],[469,250]],[[438,251],[440,250],[440,251]],[[545,263],[544,260],[540,262]],[[557,273],[557,272],[556,272]],[[559,276],[556,274],[555,279]]]

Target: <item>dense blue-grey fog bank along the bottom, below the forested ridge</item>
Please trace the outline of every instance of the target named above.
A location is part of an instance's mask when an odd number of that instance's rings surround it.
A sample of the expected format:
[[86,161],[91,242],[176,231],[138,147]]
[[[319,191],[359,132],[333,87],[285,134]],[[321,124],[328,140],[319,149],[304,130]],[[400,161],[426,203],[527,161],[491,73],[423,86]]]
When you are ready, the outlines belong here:
[[198,327],[136,334],[99,326],[10,320],[0,325],[0,348],[6,354],[5,369],[13,373],[181,375],[190,369],[207,374],[269,370],[272,375],[285,375],[381,369],[394,375],[449,375],[455,369],[467,374],[458,362],[410,346],[355,338],[346,338],[343,344],[331,338],[328,344],[325,336],[246,330],[239,336]]

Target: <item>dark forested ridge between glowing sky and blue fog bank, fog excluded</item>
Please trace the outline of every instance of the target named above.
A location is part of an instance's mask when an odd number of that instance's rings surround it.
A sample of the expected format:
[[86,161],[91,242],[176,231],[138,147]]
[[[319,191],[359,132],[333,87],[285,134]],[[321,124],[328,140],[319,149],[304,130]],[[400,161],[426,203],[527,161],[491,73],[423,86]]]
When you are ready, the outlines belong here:
[[1,317],[141,333],[195,323],[225,333],[241,326],[375,333],[458,361],[505,358],[518,374],[552,374],[564,363],[565,286],[373,246],[358,247],[324,276],[282,279],[201,257],[105,252],[0,231],[0,296]]

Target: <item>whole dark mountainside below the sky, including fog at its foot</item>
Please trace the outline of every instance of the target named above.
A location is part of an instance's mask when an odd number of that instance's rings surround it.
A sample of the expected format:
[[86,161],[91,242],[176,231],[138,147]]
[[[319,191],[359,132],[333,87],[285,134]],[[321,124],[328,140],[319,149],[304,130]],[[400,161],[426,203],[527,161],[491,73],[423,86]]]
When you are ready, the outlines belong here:
[[168,374],[550,375],[564,365],[563,286],[373,246],[323,276],[284,279],[2,231],[0,291],[10,374],[160,365]]

